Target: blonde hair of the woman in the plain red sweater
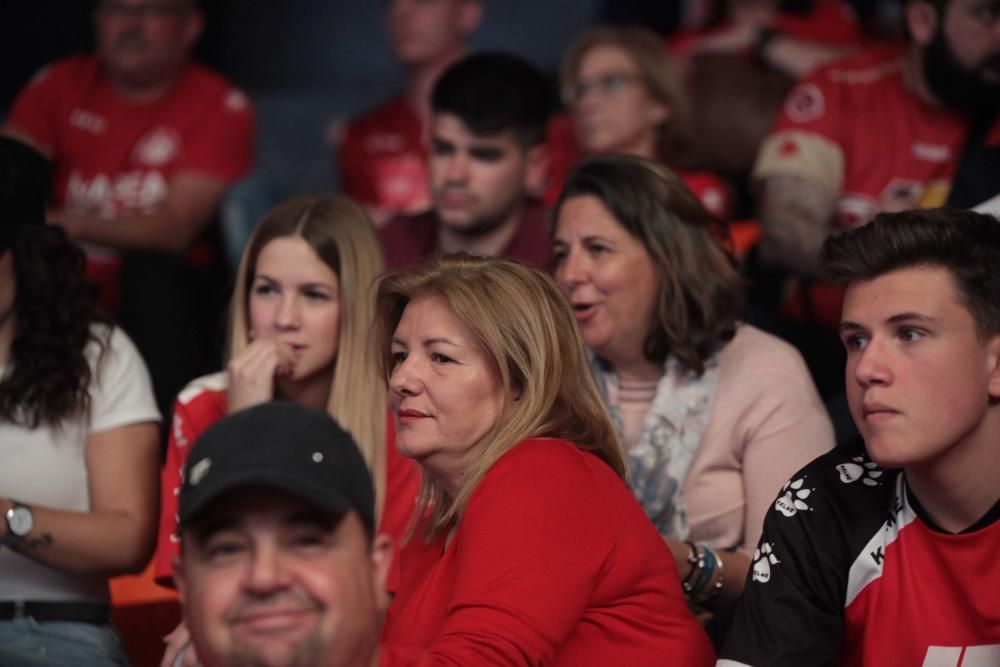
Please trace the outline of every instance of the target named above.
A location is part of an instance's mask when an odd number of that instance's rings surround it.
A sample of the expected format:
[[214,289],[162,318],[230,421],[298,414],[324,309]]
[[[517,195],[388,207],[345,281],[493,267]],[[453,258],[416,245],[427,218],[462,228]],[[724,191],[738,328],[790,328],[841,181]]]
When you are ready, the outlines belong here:
[[624,451],[591,375],[576,319],[548,274],[512,260],[462,253],[384,275],[376,296],[375,344],[386,381],[393,371],[396,326],[406,305],[422,297],[443,299],[473,332],[495,364],[505,396],[482,455],[465,471],[454,496],[423,476],[416,516],[429,514],[428,540],[461,515],[493,464],[528,438],[568,440],[626,478]]

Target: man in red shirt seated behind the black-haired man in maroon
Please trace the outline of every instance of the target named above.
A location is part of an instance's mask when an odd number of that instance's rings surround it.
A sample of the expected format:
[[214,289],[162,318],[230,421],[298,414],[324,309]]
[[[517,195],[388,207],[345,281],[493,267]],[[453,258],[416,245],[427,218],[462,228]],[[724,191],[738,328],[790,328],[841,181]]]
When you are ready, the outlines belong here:
[[434,82],[465,53],[480,0],[390,0],[389,39],[407,70],[406,91],[351,121],[337,146],[344,192],[381,224],[430,208],[426,125]]

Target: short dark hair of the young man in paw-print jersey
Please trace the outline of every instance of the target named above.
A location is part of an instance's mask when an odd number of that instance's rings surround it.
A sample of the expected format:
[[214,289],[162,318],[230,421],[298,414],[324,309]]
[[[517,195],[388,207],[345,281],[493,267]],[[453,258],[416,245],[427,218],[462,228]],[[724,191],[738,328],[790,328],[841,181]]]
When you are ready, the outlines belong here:
[[980,338],[1000,333],[1000,221],[992,215],[957,208],[880,213],[827,239],[820,262],[844,285],[915,266],[947,269]]

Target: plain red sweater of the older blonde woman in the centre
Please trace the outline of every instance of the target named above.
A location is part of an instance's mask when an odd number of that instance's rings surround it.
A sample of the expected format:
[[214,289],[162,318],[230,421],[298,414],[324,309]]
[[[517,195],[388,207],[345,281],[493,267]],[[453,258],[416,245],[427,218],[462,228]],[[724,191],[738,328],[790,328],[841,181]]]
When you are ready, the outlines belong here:
[[483,478],[444,547],[415,537],[383,665],[714,664],[673,558],[628,487],[569,442],[527,440]]

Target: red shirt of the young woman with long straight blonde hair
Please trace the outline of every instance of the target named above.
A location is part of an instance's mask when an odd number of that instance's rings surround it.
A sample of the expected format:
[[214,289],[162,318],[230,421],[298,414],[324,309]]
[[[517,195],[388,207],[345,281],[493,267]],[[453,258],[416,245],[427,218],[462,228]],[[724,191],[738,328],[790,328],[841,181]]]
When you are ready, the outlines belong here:
[[[177,502],[183,480],[184,462],[195,443],[209,426],[228,413],[227,378],[213,373],[191,382],[177,396],[174,418],[167,442],[167,460],[161,472],[160,530],[156,546],[154,576],[162,585],[172,586],[171,561],[180,551],[177,534]],[[386,424],[386,497],[379,517],[378,532],[391,536],[398,550],[410,525],[410,515],[420,491],[420,469],[396,451],[393,421]],[[393,558],[389,590],[395,590],[399,559]]]

